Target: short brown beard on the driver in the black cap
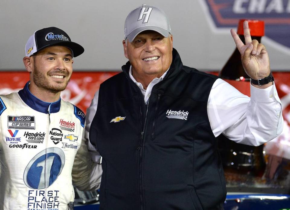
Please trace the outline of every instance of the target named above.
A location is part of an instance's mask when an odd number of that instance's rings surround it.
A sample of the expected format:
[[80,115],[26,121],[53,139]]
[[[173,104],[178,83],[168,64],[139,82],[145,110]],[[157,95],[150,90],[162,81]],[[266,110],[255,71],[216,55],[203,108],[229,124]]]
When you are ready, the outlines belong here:
[[[60,71],[58,73],[64,73],[66,75],[66,77],[68,76],[67,72]],[[63,91],[64,89],[66,89],[66,86],[69,83],[69,80],[67,80],[65,85],[61,85],[61,84],[60,85],[51,85],[51,84],[49,84],[45,75],[41,74],[41,72],[38,70],[37,66],[35,65],[35,60],[34,60],[34,71],[32,74],[33,74],[34,84],[36,84],[36,86],[38,88],[45,89],[47,91],[50,91],[51,93],[58,93],[60,91]]]

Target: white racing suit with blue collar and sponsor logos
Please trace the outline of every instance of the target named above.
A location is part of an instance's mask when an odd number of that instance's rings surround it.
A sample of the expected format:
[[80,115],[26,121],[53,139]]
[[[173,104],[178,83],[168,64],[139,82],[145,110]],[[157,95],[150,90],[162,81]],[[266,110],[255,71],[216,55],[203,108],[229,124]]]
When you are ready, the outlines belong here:
[[0,210],[67,210],[74,200],[72,170],[80,189],[100,183],[100,175],[89,183],[94,171],[82,142],[85,114],[61,99],[39,100],[28,85],[0,95]]

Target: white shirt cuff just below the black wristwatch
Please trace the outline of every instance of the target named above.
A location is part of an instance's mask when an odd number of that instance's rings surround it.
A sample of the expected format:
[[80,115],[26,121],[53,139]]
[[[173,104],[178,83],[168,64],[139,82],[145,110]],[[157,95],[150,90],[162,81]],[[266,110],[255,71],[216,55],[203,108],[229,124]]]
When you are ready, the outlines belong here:
[[250,90],[251,90],[251,100],[257,102],[273,102],[273,101],[280,102],[274,82],[273,85],[265,89],[256,88],[252,84],[250,84]]

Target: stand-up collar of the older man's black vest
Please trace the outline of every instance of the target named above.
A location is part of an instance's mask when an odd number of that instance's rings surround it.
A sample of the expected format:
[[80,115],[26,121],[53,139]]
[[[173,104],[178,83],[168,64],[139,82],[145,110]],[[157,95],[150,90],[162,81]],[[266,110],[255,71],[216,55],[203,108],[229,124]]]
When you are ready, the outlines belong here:
[[[123,72],[127,75],[128,78],[129,76],[129,69],[130,69],[131,63],[128,61],[125,65],[122,66]],[[175,48],[172,49],[172,63],[170,65],[169,71],[167,72],[165,79],[166,78],[172,78],[175,75],[177,75],[182,68],[183,64],[181,62],[181,58]]]

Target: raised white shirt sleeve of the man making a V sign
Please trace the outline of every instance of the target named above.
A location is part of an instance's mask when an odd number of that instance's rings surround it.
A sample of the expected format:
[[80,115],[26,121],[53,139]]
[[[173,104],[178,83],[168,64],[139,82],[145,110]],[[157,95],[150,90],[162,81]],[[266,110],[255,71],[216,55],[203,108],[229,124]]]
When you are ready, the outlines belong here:
[[275,84],[265,89],[249,85],[251,97],[217,79],[208,98],[208,118],[216,137],[223,133],[237,143],[258,146],[282,132],[282,107]]

